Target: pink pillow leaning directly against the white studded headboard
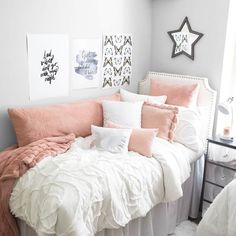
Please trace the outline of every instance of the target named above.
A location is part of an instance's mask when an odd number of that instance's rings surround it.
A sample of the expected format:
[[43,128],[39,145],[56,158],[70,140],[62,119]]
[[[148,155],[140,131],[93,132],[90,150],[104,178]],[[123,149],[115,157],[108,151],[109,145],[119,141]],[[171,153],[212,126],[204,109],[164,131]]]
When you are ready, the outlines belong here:
[[152,96],[166,95],[167,104],[184,107],[196,106],[198,93],[198,84],[170,84],[165,81],[151,80],[150,94]]

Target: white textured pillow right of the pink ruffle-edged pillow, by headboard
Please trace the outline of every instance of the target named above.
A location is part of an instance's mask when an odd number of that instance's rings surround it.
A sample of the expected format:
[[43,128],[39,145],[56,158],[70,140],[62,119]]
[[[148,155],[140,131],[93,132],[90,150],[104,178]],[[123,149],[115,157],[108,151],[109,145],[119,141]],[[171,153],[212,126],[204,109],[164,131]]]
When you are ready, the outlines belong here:
[[174,141],[182,143],[195,152],[203,149],[200,139],[201,114],[198,109],[179,107]]

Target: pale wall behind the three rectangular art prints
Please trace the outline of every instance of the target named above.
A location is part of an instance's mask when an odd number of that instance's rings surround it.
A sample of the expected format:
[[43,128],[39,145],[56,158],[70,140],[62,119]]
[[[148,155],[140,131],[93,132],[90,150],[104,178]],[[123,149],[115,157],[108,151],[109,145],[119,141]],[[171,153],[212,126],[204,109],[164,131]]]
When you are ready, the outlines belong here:
[[66,33],[70,38],[102,33],[133,34],[130,90],[150,69],[151,0],[0,0],[0,149],[14,143],[6,109],[111,94],[115,89],[84,89],[69,97],[29,101],[27,33]]

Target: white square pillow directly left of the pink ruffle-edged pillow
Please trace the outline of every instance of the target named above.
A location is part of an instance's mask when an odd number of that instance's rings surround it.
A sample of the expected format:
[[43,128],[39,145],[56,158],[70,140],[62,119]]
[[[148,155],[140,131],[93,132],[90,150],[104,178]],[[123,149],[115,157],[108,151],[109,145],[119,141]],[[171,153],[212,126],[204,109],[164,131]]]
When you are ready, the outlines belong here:
[[113,122],[127,128],[141,128],[143,102],[103,101],[103,126]]

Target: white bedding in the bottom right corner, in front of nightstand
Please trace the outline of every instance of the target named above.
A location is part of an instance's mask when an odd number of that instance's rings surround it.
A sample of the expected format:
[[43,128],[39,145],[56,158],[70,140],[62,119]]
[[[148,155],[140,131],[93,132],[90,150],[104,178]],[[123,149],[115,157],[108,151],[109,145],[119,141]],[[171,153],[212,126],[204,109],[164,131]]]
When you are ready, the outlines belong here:
[[206,211],[198,236],[236,235],[236,180],[229,183]]

